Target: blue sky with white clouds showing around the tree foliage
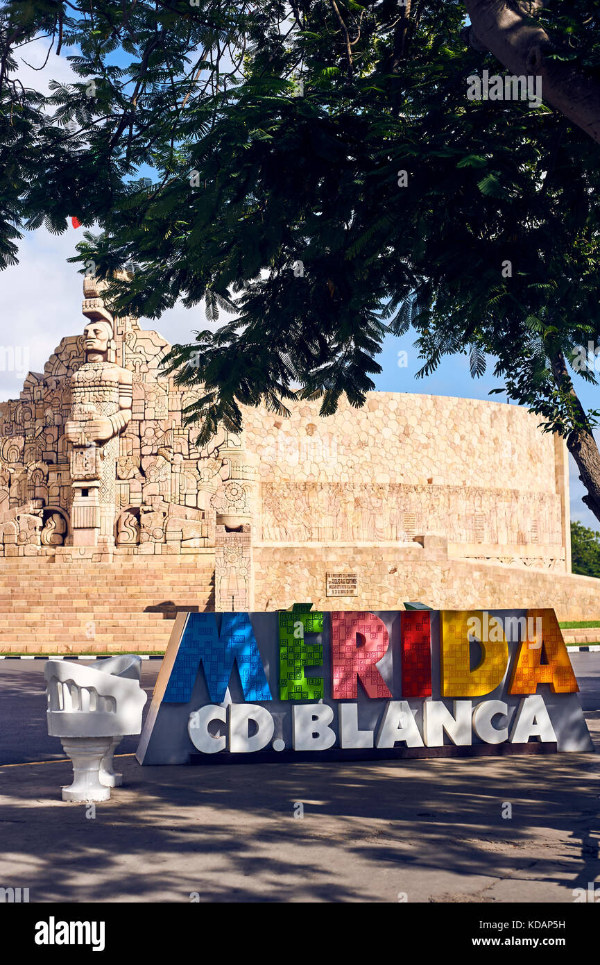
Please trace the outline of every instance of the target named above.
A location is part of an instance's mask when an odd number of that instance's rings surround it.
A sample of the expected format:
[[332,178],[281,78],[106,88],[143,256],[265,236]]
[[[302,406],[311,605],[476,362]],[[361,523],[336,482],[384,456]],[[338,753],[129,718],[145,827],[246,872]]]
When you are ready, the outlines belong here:
[[[27,48],[27,60],[37,66],[46,56],[47,44],[36,41]],[[53,78],[68,82],[72,74],[64,57],[50,55],[46,69],[34,73],[23,65],[21,79],[28,86],[39,85],[41,78]],[[15,358],[23,363],[20,367],[34,372],[43,370],[44,362],[65,335],[82,329],[81,284],[82,279],[74,265],[67,263],[75,254],[75,245],[81,240],[82,229],[68,227],[65,234],[52,235],[45,229],[26,234],[20,245],[19,264],[0,274],[0,304],[3,307],[3,347],[14,346]],[[195,328],[207,327],[204,306],[186,310],[176,306],[158,321],[142,321],[148,328],[156,328],[171,343],[192,341]],[[409,332],[401,339],[389,337],[378,361],[382,372],[375,376],[375,387],[386,392],[411,392],[440,396],[461,396],[469,399],[493,400],[507,403],[505,394],[489,396],[490,389],[502,387],[502,382],[488,372],[480,379],[471,378],[466,356],[444,359],[434,374],[416,378],[421,367],[417,350],[413,347],[415,335]],[[407,367],[398,367],[398,351],[407,353]],[[20,352],[20,356],[19,353]],[[0,357],[0,400],[18,398],[24,377],[20,371],[5,371]],[[600,408],[600,388],[590,386],[578,379],[578,391],[586,408]],[[600,433],[598,433],[600,439]],[[571,514],[591,526],[600,529],[600,523],[582,503],[585,489],[579,482],[573,460],[571,462]]]

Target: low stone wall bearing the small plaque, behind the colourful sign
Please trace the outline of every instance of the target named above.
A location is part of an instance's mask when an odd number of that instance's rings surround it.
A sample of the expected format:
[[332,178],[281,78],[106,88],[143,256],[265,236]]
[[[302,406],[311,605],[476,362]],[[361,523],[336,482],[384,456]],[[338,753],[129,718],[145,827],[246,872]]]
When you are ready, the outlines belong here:
[[[257,610],[311,600],[315,609],[403,609],[419,601],[433,609],[554,607],[559,620],[600,618],[600,580],[533,567],[452,559],[444,539],[424,545],[262,546],[255,549]],[[356,596],[328,596],[327,573],[356,574]]]

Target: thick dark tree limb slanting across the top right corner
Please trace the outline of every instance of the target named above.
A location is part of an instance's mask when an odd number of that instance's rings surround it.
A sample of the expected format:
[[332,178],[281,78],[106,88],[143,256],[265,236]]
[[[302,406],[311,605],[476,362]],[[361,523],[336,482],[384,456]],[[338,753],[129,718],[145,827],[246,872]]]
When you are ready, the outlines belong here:
[[505,0],[465,0],[475,35],[471,42],[477,50],[491,50],[513,73],[541,76],[546,103],[600,143],[600,81],[567,61],[545,56],[557,45],[524,15],[526,9],[534,14],[543,3],[532,0],[509,7]]

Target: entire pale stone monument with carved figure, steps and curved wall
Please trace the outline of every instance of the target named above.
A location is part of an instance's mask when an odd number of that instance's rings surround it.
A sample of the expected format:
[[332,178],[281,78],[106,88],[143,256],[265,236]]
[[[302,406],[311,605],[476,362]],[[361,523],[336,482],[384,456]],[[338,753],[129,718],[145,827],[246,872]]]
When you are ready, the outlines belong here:
[[[161,650],[182,610],[554,607],[570,572],[567,458],[499,402],[368,393],[319,416],[243,407],[198,447],[201,386],[84,280],[80,335],[0,402],[0,652]],[[595,609],[594,609],[595,608]]]

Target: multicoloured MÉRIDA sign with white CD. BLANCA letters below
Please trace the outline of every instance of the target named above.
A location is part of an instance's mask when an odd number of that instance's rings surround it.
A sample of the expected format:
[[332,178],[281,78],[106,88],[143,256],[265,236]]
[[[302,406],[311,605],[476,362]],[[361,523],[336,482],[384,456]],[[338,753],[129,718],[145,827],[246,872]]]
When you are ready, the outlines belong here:
[[578,690],[554,610],[179,614],[137,757],[581,753]]

